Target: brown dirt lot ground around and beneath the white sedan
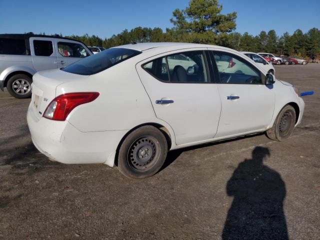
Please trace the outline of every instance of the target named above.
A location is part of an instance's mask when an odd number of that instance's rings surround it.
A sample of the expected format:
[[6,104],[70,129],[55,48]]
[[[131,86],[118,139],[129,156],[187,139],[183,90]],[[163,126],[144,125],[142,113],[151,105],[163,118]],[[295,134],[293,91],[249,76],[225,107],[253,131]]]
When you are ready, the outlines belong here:
[[31,143],[29,99],[0,92],[0,239],[319,239],[320,64],[276,76],[315,91],[288,140],[172,151],[144,180],[47,160]]

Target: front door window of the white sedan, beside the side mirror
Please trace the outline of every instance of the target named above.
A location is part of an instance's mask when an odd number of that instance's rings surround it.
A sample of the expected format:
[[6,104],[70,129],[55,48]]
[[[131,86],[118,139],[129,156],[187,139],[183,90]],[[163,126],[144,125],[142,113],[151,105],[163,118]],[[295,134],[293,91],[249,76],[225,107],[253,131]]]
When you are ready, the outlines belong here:
[[245,59],[227,52],[213,52],[220,83],[262,84],[260,72]]

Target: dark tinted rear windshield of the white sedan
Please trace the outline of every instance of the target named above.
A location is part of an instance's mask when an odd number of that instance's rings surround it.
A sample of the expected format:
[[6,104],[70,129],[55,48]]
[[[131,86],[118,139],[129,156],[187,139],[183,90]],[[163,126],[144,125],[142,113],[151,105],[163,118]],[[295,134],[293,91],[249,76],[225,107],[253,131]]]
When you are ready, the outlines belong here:
[[78,60],[71,65],[61,68],[61,70],[80,75],[92,75],[140,53],[140,51],[127,48],[109,48],[101,51],[99,54]]

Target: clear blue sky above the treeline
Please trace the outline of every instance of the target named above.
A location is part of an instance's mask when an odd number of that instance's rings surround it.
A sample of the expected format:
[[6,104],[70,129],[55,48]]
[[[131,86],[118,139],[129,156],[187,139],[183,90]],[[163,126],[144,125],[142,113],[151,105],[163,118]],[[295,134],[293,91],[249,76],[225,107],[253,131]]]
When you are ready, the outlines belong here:
[[[88,33],[102,38],[123,29],[171,27],[175,8],[189,0],[0,0],[0,33]],[[236,31],[278,35],[320,28],[320,0],[219,0],[223,13],[236,11]]]

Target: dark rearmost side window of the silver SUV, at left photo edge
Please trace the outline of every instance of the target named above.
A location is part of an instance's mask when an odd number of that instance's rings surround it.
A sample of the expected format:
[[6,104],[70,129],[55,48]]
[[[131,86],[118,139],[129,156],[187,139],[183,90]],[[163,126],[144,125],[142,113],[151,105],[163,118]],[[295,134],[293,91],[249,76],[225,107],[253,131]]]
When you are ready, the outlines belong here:
[[0,54],[27,55],[25,40],[0,38]]

